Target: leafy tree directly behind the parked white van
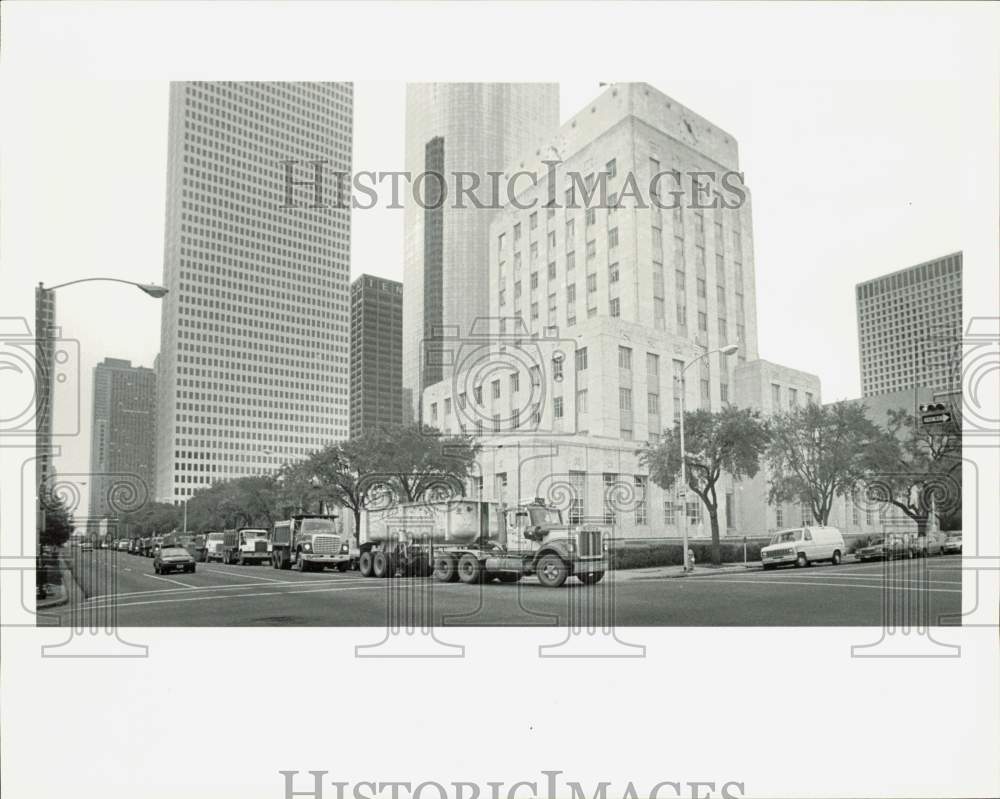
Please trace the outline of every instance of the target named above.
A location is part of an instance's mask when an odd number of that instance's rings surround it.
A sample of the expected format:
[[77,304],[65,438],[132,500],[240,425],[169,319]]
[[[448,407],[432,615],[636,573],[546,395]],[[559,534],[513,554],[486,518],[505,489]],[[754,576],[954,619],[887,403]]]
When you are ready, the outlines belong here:
[[864,405],[799,407],[771,420],[771,502],[799,502],[825,525],[837,496],[868,474],[867,453],[882,434]]

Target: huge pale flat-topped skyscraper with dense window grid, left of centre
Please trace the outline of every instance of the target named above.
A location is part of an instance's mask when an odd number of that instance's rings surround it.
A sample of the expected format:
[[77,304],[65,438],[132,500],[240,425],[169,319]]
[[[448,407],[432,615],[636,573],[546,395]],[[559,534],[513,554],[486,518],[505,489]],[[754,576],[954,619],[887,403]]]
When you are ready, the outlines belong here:
[[347,436],[350,210],[286,207],[286,164],[350,173],[352,116],[349,83],[171,86],[160,500]]

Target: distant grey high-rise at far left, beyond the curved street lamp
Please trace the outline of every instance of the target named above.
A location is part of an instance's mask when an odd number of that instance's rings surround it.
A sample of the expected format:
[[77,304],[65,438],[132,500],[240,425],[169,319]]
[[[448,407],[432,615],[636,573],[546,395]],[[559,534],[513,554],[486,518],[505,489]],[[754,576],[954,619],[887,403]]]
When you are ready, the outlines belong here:
[[156,468],[156,373],[105,358],[94,367],[90,431],[90,518],[114,515],[109,491],[133,484],[153,494]]

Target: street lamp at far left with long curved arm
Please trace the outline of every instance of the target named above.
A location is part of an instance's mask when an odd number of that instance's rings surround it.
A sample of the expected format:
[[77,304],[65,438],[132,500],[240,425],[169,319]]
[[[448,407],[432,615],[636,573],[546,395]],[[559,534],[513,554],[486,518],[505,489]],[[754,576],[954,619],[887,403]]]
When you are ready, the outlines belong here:
[[37,386],[35,390],[35,549],[41,552],[41,534],[45,528],[45,505],[42,502],[42,486],[49,476],[52,458],[52,381],[55,372],[55,352],[52,340],[55,330],[55,298],[56,289],[73,286],[77,283],[124,283],[135,286],[144,294],[154,299],[162,299],[167,289],[154,283],[137,283],[133,280],[123,280],[117,277],[85,277],[70,280],[55,286],[45,286],[39,283],[35,289],[35,360],[37,363]]

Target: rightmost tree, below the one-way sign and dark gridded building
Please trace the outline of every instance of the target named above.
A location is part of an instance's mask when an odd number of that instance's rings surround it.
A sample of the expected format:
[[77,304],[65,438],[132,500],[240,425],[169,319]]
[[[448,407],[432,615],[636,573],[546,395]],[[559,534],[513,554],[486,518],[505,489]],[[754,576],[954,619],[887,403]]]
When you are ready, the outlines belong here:
[[869,501],[899,508],[927,534],[931,511],[943,528],[962,518],[962,425],[955,417],[933,427],[912,413],[890,410],[882,436],[867,452]]

